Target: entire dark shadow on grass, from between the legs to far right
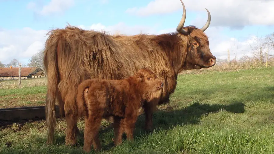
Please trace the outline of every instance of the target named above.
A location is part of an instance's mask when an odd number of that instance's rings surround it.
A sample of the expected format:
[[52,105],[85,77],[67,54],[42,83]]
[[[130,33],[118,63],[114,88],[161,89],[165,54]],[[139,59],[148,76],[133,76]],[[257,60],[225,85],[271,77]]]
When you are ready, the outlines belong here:
[[[229,105],[222,104],[200,104],[199,102],[195,102],[192,105],[173,110],[171,107],[165,110],[158,110],[153,114],[153,126],[155,127],[154,131],[160,130],[169,130],[172,127],[177,125],[185,125],[185,124],[198,124],[202,118],[202,116],[207,115],[209,113],[216,113],[221,110],[226,110],[230,113],[243,113],[244,112],[244,104],[241,102],[234,102]],[[146,132],[144,128],[145,116],[144,114],[139,115],[138,120],[136,122],[136,129],[134,132],[135,137],[141,137]],[[107,139],[104,139],[104,134],[111,134],[111,137],[114,137],[113,128],[110,124],[108,127],[100,129],[100,141],[102,143],[104,151],[108,151],[114,148],[113,142],[107,143]],[[80,130],[78,135],[78,140],[76,147],[83,147],[84,145],[84,132]],[[123,135],[123,139],[125,140],[126,135]],[[124,141],[123,141],[124,142]],[[56,143],[57,145],[65,144],[65,134],[58,135]]]

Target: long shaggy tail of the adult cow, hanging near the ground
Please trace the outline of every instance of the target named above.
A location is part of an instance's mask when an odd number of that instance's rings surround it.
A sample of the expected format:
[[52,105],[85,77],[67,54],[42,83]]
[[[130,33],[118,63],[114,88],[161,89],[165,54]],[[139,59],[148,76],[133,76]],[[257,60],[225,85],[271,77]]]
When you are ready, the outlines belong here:
[[[58,61],[57,61],[57,47],[61,50],[62,43],[57,35],[51,34],[45,43],[44,49],[44,67],[47,73],[47,95],[46,95],[46,123],[47,144],[52,144],[54,139],[54,129],[56,127],[55,116],[55,100],[58,92]],[[63,110],[63,109],[60,109]]]

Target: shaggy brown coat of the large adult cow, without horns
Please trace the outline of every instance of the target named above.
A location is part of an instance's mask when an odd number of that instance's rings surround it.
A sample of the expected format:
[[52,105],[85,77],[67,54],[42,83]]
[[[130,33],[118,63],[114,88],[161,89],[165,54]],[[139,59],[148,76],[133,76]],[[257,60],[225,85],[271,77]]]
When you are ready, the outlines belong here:
[[53,142],[55,100],[61,115],[65,110],[66,145],[73,145],[78,131],[76,89],[79,84],[90,78],[125,79],[140,68],[150,68],[164,82],[163,89],[151,93],[143,105],[145,127],[151,129],[153,111],[157,104],[169,102],[177,74],[184,69],[208,68],[215,64],[206,34],[194,26],[183,29],[189,34],[112,36],[74,26],[51,30],[44,51],[48,79],[47,143]]

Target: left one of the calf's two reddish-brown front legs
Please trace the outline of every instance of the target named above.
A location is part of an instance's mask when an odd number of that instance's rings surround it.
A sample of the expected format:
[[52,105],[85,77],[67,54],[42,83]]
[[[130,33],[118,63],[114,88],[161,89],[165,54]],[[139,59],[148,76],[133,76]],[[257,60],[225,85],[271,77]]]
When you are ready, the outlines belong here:
[[124,133],[124,127],[122,120],[118,117],[114,117],[114,145],[120,145],[122,142],[122,135]]

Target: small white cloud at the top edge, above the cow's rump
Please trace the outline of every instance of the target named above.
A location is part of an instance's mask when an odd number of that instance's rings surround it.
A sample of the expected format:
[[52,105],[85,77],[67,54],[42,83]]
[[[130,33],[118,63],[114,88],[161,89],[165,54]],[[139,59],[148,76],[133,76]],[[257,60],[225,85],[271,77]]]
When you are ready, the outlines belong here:
[[27,5],[28,9],[33,9],[39,15],[47,16],[54,13],[63,13],[74,5],[74,0],[51,0],[47,5],[43,5],[41,8],[36,3],[30,2]]

